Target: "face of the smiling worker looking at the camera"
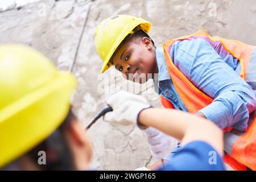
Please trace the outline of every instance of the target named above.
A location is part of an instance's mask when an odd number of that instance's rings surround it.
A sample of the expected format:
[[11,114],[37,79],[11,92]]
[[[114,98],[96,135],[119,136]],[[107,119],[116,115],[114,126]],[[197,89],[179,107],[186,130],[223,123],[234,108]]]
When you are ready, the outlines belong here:
[[127,80],[143,84],[148,80],[148,74],[154,74],[157,67],[155,47],[146,37],[139,42],[131,38],[118,50],[113,64]]

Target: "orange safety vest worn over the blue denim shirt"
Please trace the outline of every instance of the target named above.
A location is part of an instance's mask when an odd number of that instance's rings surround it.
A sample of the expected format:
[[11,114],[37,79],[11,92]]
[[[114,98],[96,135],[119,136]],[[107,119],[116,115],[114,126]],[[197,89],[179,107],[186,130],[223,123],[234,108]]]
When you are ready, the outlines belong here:
[[[188,80],[187,77],[179,71],[174,65],[168,51],[172,44],[178,40],[185,40],[192,36],[204,36],[209,41],[220,41],[222,46],[231,55],[236,57],[241,63],[240,76],[246,81],[247,68],[249,66],[251,54],[253,53],[254,46],[247,45],[237,40],[227,40],[218,36],[209,36],[207,31],[201,30],[192,35],[183,36],[181,38],[170,40],[163,44],[164,57],[166,60],[168,72],[174,82],[174,86],[179,94],[183,104],[188,109],[189,113],[196,113],[200,109],[212,103],[213,98],[210,98],[205,93],[201,92],[195,85]],[[169,100],[160,96],[162,105],[166,108],[174,108]],[[256,117],[247,129],[246,133],[238,137],[233,144],[232,156],[226,155],[224,162],[229,164],[236,170],[246,170],[246,167],[256,170]],[[225,130],[230,131],[230,130]]]

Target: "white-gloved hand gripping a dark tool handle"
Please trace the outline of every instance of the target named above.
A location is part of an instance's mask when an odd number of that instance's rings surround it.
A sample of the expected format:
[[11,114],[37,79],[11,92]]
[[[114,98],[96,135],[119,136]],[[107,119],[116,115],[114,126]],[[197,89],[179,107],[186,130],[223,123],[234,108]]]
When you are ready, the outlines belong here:
[[[121,91],[111,96],[107,104],[113,109],[105,114],[104,121],[117,122],[122,125],[137,124],[138,115],[143,109],[151,107],[146,98]],[[138,125],[139,126],[139,125]]]

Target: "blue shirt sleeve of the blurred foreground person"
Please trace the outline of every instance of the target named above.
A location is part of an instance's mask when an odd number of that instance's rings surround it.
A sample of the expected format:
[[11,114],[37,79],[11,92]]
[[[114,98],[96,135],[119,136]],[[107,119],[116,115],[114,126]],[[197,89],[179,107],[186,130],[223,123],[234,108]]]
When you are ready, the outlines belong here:
[[160,171],[224,171],[221,156],[208,143],[195,141],[186,144]]

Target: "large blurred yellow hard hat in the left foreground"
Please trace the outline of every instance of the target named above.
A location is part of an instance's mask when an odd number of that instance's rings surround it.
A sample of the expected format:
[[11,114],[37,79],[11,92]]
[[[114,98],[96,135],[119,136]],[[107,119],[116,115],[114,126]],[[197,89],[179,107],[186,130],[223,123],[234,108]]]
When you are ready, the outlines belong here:
[[27,46],[0,45],[0,168],[48,138],[64,121],[75,77]]

